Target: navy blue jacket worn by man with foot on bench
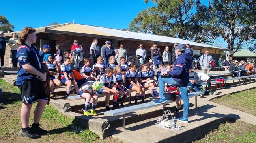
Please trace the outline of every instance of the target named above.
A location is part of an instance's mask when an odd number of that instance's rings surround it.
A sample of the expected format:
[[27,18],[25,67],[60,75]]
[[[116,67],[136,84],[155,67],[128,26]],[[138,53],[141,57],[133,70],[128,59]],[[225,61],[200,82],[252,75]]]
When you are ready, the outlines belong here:
[[174,63],[172,71],[167,73],[181,85],[187,85],[189,82],[189,69],[191,66],[191,55],[190,53],[181,53]]

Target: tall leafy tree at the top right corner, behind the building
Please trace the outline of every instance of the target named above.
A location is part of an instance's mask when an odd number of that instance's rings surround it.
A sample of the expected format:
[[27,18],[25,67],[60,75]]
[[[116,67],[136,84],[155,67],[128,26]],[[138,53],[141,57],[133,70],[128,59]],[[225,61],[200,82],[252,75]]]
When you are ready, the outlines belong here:
[[239,51],[255,28],[255,0],[209,0],[209,25],[228,43],[231,53]]

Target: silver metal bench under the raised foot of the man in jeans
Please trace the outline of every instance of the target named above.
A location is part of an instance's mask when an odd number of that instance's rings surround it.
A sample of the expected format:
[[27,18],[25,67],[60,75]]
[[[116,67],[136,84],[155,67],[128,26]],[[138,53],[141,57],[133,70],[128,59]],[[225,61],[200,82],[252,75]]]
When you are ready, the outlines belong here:
[[[201,91],[198,91],[198,92],[192,92],[192,93],[189,93],[188,96],[189,98],[192,98],[195,96],[200,96],[204,94],[204,92],[201,92]],[[181,98],[182,100],[182,98]],[[197,107],[197,98],[195,99],[196,100],[196,107]],[[173,100],[168,100],[165,104],[169,104],[169,103],[172,103],[172,102],[175,102]],[[148,103],[142,103],[142,104],[139,104],[139,105],[133,105],[133,106],[129,106],[129,107],[124,107],[124,108],[120,108],[120,109],[115,109],[115,110],[110,110],[110,111],[106,111],[104,112],[104,115],[109,115],[109,116],[118,116],[118,115],[123,115],[123,129],[125,129],[125,114],[126,113],[131,113],[131,112],[134,112],[134,111],[138,111],[138,110],[143,110],[143,109],[148,109],[148,108],[152,108],[152,107],[157,107],[157,106],[161,106],[163,104],[156,104],[154,103],[153,101],[151,102],[148,102]],[[164,112],[164,108],[163,108],[163,112]]]

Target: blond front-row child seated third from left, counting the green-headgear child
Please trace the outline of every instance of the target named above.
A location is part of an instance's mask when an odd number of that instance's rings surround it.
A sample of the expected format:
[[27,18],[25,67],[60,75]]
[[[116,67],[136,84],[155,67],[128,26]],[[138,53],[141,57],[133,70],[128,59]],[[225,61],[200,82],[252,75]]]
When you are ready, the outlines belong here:
[[114,81],[114,85],[117,86],[119,91],[118,99],[113,99],[113,108],[114,108],[114,102],[116,102],[116,107],[118,108],[119,103],[121,104],[121,106],[123,106],[123,100],[125,99],[125,97],[131,94],[131,91],[123,86],[123,78],[121,74],[120,65],[116,65],[116,67],[114,67],[113,81]]

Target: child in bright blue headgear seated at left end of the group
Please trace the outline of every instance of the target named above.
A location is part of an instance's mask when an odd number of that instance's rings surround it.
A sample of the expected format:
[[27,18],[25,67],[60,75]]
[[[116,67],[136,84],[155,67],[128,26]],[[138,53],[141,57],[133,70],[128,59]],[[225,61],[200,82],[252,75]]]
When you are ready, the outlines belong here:
[[54,89],[60,87],[62,83],[58,78],[54,77],[54,75],[57,75],[57,66],[52,63],[53,59],[51,54],[45,54],[43,60],[50,72],[50,98],[54,98]]

